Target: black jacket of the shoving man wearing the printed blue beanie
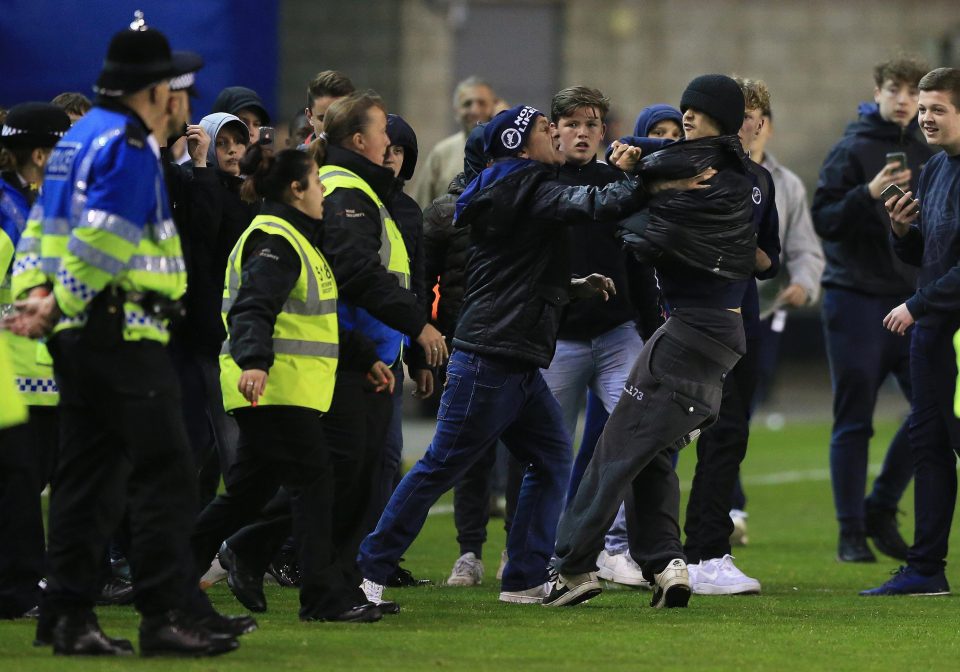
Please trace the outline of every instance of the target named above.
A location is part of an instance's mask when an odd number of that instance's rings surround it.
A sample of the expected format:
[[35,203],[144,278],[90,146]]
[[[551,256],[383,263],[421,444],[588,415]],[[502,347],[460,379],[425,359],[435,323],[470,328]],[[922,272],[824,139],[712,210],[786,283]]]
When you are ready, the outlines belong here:
[[556,167],[536,161],[480,189],[456,221],[470,229],[471,248],[454,346],[549,366],[570,301],[566,225],[616,221],[645,200],[630,179],[603,189],[564,186]]

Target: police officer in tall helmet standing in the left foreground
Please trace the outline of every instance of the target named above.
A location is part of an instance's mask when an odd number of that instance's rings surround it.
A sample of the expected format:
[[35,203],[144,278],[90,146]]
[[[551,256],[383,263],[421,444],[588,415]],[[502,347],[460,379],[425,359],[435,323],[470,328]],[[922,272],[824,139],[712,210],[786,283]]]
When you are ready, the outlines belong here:
[[[14,291],[31,290],[15,333],[51,333],[63,439],[50,501],[48,587],[38,639],[54,653],[122,655],[93,612],[99,561],[127,499],[142,655],[235,649],[185,609],[195,589],[187,535],[195,480],[176,374],[164,350],[184,292],[154,133],[169,80],[202,65],[172,53],[142,14],[110,42],[96,107],[54,148],[44,193],[21,240]],[[39,239],[39,251],[36,242]],[[52,631],[47,628],[52,624]]]

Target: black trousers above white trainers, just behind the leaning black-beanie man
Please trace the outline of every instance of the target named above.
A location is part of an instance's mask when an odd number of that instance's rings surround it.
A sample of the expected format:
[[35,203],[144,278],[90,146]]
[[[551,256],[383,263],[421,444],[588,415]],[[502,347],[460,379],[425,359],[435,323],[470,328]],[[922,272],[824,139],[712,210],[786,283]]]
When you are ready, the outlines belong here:
[[730,552],[730,509],[750,438],[758,345],[755,340],[747,341],[746,353],[723,382],[717,421],[697,441],[697,466],[683,527],[687,536],[683,550],[689,562],[722,558]]

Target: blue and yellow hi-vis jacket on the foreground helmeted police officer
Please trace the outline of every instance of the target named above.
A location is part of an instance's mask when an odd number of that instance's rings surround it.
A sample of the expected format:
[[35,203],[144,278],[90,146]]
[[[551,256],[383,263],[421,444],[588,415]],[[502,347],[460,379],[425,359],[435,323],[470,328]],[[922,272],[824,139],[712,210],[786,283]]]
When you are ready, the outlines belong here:
[[[159,147],[127,108],[93,108],[47,163],[17,248],[13,291],[47,282],[63,312],[55,331],[82,326],[87,305],[107,286],[170,299],[186,289]],[[124,303],[124,314],[125,340],[168,340],[166,321],[137,303]]]

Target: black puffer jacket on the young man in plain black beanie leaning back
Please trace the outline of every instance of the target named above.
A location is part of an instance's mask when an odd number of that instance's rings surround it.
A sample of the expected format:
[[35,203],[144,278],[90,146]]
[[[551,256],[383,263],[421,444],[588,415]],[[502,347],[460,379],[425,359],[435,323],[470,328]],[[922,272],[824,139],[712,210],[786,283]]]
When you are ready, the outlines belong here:
[[647,259],[668,254],[718,277],[752,278],[757,242],[745,160],[735,135],[676,142],[644,158],[638,168],[644,181],[693,177],[710,167],[718,172],[709,189],[654,196],[645,212],[621,224],[624,242]]

